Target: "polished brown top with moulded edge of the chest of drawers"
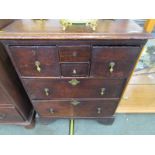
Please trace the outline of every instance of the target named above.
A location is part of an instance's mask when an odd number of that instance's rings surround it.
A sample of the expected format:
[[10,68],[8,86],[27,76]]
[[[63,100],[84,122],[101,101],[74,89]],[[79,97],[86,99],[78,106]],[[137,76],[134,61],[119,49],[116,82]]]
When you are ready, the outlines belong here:
[[72,25],[64,31],[60,20],[14,20],[0,30],[0,39],[150,39],[152,35],[132,20],[97,21],[93,31]]

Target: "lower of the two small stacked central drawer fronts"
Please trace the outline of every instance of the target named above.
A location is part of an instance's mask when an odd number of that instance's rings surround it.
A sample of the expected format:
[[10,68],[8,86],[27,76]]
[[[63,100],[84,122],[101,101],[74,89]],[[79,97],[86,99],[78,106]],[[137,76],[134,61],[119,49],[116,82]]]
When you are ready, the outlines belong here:
[[82,77],[89,75],[89,63],[63,63],[61,75],[64,77]]

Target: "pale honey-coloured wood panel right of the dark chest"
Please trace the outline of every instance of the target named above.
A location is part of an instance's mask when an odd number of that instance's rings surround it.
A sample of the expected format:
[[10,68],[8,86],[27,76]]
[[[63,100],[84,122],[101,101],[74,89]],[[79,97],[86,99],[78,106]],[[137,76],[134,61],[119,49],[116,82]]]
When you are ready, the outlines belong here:
[[155,112],[155,85],[128,85],[118,113],[154,113]]

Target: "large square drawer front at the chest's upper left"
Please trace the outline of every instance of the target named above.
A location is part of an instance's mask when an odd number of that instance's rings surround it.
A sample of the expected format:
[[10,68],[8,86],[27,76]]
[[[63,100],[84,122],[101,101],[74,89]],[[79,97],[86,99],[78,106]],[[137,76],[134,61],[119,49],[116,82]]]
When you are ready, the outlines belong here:
[[10,46],[21,76],[60,76],[56,46]]

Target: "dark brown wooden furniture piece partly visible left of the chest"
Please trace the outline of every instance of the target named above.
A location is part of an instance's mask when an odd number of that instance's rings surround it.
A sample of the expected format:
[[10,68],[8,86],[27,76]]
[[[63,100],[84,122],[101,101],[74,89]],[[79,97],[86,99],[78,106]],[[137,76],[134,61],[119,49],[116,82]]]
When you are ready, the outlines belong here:
[[33,127],[34,110],[0,44],[0,124]]

